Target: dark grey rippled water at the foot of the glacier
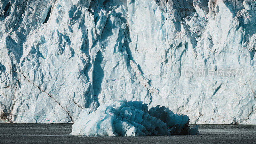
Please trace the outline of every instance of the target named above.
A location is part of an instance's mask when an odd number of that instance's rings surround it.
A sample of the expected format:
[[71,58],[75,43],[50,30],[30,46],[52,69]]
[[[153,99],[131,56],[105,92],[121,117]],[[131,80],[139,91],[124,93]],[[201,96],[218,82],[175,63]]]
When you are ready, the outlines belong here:
[[72,124],[1,124],[0,143],[256,143],[256,126],[200,125],[200,135],[71,136]]

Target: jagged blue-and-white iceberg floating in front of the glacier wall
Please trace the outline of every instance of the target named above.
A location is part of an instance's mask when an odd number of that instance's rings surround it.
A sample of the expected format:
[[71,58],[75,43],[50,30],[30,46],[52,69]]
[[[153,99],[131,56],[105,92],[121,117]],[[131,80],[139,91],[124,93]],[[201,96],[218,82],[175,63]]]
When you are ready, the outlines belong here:
[[110,101],[95,112],[81,111],[72,125],[71,135],[87,136],[145,136],[171,134],[198,134],[189,129],[188,116],[174,114],[169,108],[152,107],[141,101]]

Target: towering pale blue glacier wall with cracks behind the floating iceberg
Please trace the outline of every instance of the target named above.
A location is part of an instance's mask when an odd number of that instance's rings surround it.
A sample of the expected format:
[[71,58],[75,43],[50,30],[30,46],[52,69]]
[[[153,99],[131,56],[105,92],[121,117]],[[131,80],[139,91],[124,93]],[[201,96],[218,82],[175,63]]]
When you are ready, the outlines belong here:
[[[1,119],[72,123],[126,99],[192,124],[256,124],[255,4],[0,0]],[[197,76],[203,68],[243,74]]]

